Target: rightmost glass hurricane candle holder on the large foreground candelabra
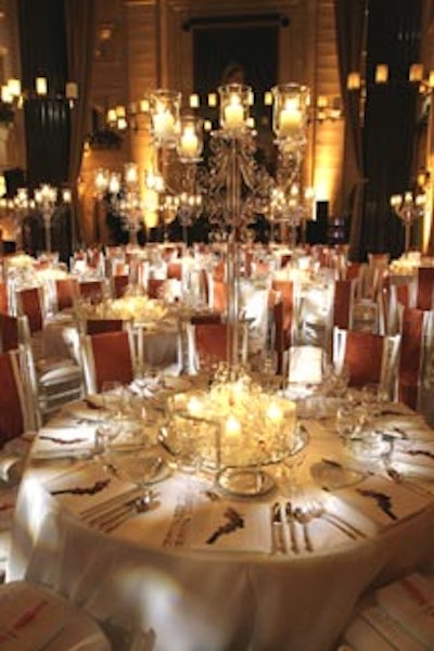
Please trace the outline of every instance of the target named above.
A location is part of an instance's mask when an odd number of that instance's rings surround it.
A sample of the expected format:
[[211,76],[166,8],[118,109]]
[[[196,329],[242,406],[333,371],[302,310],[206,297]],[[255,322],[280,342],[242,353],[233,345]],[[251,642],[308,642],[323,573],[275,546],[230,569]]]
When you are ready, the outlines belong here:
[[307,86],[299,84],[280,84],[271,89],[273,97],[272,129],[278,142],[303,145],[310,93]]

